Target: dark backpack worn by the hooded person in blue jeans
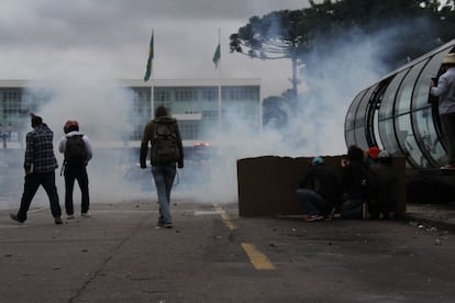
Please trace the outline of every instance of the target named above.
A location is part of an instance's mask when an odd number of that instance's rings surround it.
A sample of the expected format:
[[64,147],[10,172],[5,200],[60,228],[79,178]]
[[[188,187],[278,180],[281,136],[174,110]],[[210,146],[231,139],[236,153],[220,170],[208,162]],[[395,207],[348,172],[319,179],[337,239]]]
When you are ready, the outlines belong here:
[[152,141],[152,162],[171,164],[177,162],[180,157],[177,135],[169,124],[155,123]]

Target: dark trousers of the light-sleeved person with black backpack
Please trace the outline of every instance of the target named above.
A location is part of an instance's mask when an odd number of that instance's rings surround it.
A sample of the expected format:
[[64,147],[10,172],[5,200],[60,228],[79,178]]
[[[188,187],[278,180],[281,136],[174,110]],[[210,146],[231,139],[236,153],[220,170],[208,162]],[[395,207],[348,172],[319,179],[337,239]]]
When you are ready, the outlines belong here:
[[75,189],[75,180],[79,183],[81,193],[80,212],[87,213],[90,206],[88,191],[88,176],[86,167],[65,167],[65,210],[67,215],[75,213],[73,203],[73,191]]

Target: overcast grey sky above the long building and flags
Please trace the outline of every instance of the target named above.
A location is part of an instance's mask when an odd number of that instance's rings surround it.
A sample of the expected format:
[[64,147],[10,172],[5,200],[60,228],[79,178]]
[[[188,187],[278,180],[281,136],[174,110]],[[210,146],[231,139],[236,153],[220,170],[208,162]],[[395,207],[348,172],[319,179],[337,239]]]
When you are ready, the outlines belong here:
[[[0,0],[0,79],[142,79],[152,29],[156,79],[260,78],[263,97],[290,88],[289,60],[229,53],[229,36],[253,15],[307,0]],[[100,76],[101,75],[101,76]]]

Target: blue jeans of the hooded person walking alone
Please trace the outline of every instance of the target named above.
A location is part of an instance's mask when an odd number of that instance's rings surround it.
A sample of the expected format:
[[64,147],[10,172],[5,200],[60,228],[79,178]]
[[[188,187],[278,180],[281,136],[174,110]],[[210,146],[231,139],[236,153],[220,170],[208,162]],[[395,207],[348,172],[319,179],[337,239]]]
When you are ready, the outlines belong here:
[[152,175],[158,194],[158,223],[173,223],[170,215],[170,190],[176,178],[176,164],[152,166]]

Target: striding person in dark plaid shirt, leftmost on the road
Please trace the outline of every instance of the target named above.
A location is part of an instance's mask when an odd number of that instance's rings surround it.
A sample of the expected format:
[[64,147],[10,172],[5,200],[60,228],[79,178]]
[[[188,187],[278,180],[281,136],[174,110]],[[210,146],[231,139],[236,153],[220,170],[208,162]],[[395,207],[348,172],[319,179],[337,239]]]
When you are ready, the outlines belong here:
[[51,203],[51,212],[55,224],[62,224],[62,209],[58,202],[57,187],[55,186],[55,169],[58,167],[54,155],[54,133],[43,123],[41,116],[31,114],[33,131],[26,134],[25,148],[25,180],[22,193],[21,206],[18,213],[10,217],[19,223],[27,220],[26,213],[30,204],[40,188],[43,186]]

